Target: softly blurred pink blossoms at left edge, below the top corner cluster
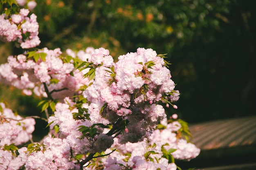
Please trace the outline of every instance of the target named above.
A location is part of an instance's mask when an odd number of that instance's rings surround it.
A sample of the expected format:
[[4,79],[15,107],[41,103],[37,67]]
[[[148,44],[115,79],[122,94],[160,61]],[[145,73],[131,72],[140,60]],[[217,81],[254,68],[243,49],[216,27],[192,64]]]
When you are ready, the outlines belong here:
[[[83,78],[85,71],[74,71],[72,63],[65,63],[60,58],[60,49],[49,50],[47,48],[36,52],[46,54],[45,60],[41,58],[35,62],[32,57],[26,55],[9,56],[8,63],[0,65],[0,81],[23,89],[23,93],[31,95],[32,91],[38,95],[47,97],[43,83],[47,84],[54,98],[64,99],[72,97],[83,85],[89,84],[89,79]],[[51,83],[51,79],[57,82]]]

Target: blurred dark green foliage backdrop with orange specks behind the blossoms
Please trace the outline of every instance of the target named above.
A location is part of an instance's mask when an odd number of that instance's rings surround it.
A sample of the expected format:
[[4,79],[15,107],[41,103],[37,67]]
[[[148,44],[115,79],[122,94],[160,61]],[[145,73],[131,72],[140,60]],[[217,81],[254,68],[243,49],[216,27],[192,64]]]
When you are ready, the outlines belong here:
[[[39,48],[168,53],[180,90],[170,115],[195,123],[255,115],[256,1],[36,0]],[[18,53],[17,51],[14,52]]]

